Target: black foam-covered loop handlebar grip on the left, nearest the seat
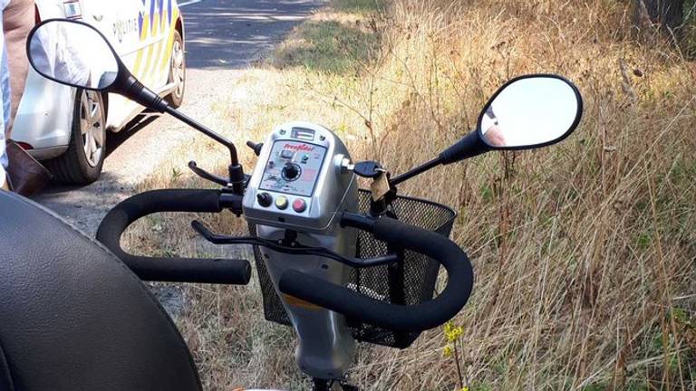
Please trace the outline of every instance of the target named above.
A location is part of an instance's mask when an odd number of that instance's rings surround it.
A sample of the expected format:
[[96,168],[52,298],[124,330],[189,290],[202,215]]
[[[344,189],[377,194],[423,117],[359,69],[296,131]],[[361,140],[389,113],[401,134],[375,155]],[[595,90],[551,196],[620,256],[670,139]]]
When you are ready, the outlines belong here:
[[97,240],[145,281],[246,285],[251,265],[245,260],[146,257],[121,248],[121,235],[141,217],[160,212],[218,213],[222,211],[220,195],[219,190],[168,189],[132,196],[104,217]]

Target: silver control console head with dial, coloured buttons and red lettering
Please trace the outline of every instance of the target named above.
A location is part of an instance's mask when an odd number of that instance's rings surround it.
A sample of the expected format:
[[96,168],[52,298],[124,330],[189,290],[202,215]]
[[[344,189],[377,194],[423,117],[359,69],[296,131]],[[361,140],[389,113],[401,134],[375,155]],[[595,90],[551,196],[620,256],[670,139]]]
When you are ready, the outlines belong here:
[[[357,199],[357,180],[341,169],[345,158],[350,157],[341,139],[324,127],[292,122],[276,128],[247,186],[244,215],[253,224],[330,229],[345,200]],[[354,197],[347,197],[350,192]]]

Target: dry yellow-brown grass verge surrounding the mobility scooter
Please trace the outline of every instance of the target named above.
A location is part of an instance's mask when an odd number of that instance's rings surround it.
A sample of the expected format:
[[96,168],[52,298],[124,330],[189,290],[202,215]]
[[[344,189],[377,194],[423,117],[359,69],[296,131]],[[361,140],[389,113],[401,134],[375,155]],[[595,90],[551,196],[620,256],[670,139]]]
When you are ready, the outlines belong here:
[[[460,214],[452,237],[477,272],[472,300],[455,319],[465,330],[465,383],[693,389],[696,65],[669,45],[633,42],[630,13],[612,0],[357,3],[334,1],[271,61],[230,81],[245,93],[211,107],[214,123],[243,129],[234,135],[241,145],[286,120],[313,120],[345,138],[354,157],[399,173],[472,129],[508,78],[569,77],[586,109],[564,144],[489,154],[401,188]],[[218,151],[206,141],[179,151],[143,188],[201,186],[178,170],[189,156],[224,167]],[[229,215],[208,222],[244,228]],[[171,242],[159,251],[198,251],[189,231],[166,229]],[[303,388],[294,337],[263,321],[259,294],[256,283],[185,288],[178,322],[206,389]],[[363,347],[351,378],[366,390],[455,389],[457,366],[443,358],[444,345],[436,329],[403,351]]]

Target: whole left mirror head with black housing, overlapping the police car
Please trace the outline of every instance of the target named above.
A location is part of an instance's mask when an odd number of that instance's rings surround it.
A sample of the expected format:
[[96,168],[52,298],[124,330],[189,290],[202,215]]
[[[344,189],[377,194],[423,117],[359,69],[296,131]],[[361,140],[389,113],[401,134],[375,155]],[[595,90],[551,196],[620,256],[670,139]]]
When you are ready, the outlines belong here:
[[84,90],[120,94],[146,108],[169,111],[169,105],[136,79],[111,43],[90,24],[49,19],[34,26],[26,54],[43,77]]

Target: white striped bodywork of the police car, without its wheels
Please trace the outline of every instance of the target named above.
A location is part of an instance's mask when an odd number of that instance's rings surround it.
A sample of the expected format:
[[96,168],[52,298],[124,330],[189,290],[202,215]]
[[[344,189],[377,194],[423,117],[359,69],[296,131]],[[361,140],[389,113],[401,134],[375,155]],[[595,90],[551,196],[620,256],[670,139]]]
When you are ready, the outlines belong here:
[[[151,90],[166,96],[174,31],[184,36],[176,0],[36,0],[41,20],[68,18],[96,27],[131,72]],[[14,119],[12,138],[39,160],[58,157],[70,144],[76,91],[43,78],[30,67]],[[107,129],[118,132],[144,108],[109,94]]]

